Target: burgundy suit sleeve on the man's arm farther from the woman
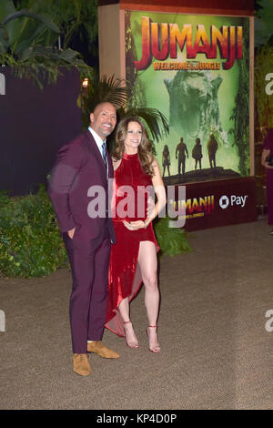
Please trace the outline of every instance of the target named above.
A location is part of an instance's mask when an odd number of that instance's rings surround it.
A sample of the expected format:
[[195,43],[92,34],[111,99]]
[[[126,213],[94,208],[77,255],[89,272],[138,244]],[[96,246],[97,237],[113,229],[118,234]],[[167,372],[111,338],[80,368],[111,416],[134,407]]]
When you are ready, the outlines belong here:
[[76,226],[70,209],[69,193],[82,164],[83,152],[79,145],[70,143],[58,151],[56,165],[49,180],[48,195],[62,232]]

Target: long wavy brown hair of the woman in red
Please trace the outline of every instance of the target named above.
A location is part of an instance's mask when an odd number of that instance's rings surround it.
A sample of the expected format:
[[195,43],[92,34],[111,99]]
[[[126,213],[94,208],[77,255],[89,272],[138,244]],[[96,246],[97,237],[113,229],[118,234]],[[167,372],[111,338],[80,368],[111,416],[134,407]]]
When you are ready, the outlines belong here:
[[113,157],[116,160],[119,160],[123,157],[123,154],[125,152],[125,140],[127,136],[127,130],[128,125],[130,122],[136,122],[140,125],[142,130],[142,137],[140,144],[138,146],[138,158],[140,161],[140,165],[144,172],[150,176],[153,177],[154,175],[154,169],[152,167],[153,163],[153,155],[151,152],[152,145],[147,137],[147,130],[144,127],[143,123],[140,121],[138,117],[124,117],[119,124],[116,127],[116,148],[113,153]]

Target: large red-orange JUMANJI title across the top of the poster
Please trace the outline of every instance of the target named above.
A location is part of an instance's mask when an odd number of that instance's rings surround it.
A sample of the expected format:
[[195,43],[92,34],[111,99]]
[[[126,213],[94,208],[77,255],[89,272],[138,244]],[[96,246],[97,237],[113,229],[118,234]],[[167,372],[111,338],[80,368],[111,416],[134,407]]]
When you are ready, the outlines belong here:
[[[243,57],[243,27],[241,25],[222,25],[220,29],[210,25],[210,35],[207,36],[205,25],[197,25],[197,34],[193,43],[193,25],[184,24],[180,29],[177,24],[154,23],[143,16],[142,29],[142,57],[135,61],[136,70],[144,70],[150,66],[153,58],[166,61],[167,58],[177,58],[177,46],[184,50],[186,46],[187,58],[195,59],[197,54],[205,54],[208,59],[217,58],[217,50],[222,64],[228,70],[234,65],[235,59]],[[218,69],[217,63],[214,66]]]

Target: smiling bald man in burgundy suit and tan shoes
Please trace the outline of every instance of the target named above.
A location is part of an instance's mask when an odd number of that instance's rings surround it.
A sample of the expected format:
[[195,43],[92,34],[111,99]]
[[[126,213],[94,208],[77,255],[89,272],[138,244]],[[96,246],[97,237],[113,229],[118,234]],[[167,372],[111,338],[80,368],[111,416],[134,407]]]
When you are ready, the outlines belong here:
[[[114,177],[114,171],[106,151],[106,137],[115,126],[116,108],[110,103],[97,105],[86,132],[58,151],[48,189],[72,270],[69,315],[74,371],[84,376],[91,372],[87,352],[119,357],[101,341],[110,246],[116,242],[108,217],[108,178]],[[99,201],[105,212],[100,209],[94,215],[90,206],[97,189],[105,196]]]

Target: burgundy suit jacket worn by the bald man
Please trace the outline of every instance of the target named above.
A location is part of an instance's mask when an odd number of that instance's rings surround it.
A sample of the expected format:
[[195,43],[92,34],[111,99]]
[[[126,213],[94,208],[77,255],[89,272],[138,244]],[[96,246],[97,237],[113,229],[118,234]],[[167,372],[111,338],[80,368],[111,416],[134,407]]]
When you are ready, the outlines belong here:
[[[106,157],[108,178],[113,178],[112,159],[107,152]],[[96,189],[92,189],[94,186],[100,189],[99,194],[104,200],[101,199],[97,207],[100,210],[99,216],[92,218],[89,215],[90,210],[88,213],[88,205],[96,199],[93,204],[96,206],[98,200]],[[107,215],[107,211],[111,209],[108,207],[108,200],[111,197],[111,195],[108,197],[108,191],[111,189],[108,189],[106,165],[89,130],[59,149],[49,181],[48,194],[62,232],[84,228],[85,238],[96,239],[107,227],[110,239],[115,243],[113,221]]]

